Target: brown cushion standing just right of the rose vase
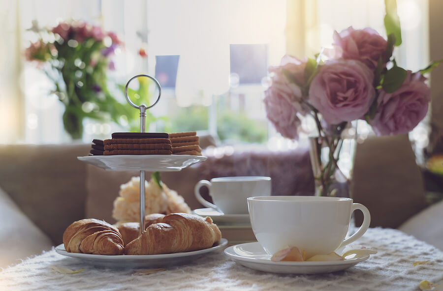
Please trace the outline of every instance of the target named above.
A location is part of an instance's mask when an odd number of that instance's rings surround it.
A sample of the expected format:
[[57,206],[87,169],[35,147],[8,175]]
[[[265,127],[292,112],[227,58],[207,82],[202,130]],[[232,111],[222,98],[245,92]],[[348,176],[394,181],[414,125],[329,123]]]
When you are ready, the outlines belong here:
[[[368,207],[371,227],[397,228],[426,206],[421,172],[407,135],[358,144],[352,178],[355,202]],[[362,216],[356,212],[356,222]]]

